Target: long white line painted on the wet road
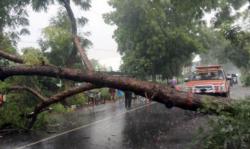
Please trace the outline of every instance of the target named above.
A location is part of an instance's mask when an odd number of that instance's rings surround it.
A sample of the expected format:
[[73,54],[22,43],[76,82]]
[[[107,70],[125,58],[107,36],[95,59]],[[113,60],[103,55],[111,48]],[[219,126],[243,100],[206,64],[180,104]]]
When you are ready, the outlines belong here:
[[120,116],[122,116],[122,115],[124,115],[124,114],[126,114],[126,113],[130,113],[130,112],[133,112],[133,111],[137,111],[137,110],[139,110],[139,109],[142,109],[142,108],[144,108],[144,107],[146,107],[146,106],[153,105],[153,104],[155,104],[155,102],[152,102],[152,103],[150,103],[150,104],[146,104],[146,105],[143,105],[143,106],[139,106],[139,107],[137,107],[137,108],[134,108],[134,109],[131,109],[131,110],[128,110],[128,111],[125,111],[125,112],[121,112],[121,113],[119,113],[119,114],[117,114],[117,115],[115,115],[115,116],[110,116],[110,117],[107,117],[107,118],[102,119],[102,120],[98,120],[98,121],[95,121],[95,122],[92,122],[92,123],[89,123],[89,124],[85,124],[85,125],[82,125],[82,126],[80,126],[80,127],[77,127],[77,128],[74,128],[74,129],[71,129],[71,130],[68,130],[68,131],[59,133],[59,134],[52,135],[52,136],[50,136],[50,137],[48,137],[48,138],[41,139],[41,140],[39,140],[39,141],[36,141],[36,142],[30,143],[30,144],[27,144],[27,145],[18,147],[18,148],[16,148],[16,149],[25,149],[25,148],[27,148],[27,147],[30,147],[30,146],[33,146],[33,145],[36,145],[36,144],[39,144],[39,143],[42,143],[42,142],[45,142],[45,141],[54,139],[54,138],[56,138],[56,137],[59,137],[59,136],[62,136],[62,135],[65,135],[65,134],[68,134],[68,133],[71,133],[71,132],[80,130],[80,129],[82,129],[82,128],[86,128],[86,127],[89,127],[89,126],[91,126],[91,125],[99,124],[99,123],[101,123],[101,122],[110,120],[110,119],[112,119],[112,118],[114,118],[114,117],[120,117]]

